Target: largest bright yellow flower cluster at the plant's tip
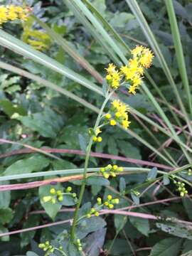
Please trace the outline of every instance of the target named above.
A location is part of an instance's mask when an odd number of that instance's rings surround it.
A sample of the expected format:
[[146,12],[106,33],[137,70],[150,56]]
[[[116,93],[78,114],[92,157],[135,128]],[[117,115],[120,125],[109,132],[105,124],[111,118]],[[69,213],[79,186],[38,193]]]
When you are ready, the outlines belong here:
[[133,58],[129,60],[127,65],[122,66],[120,70],[125,80],[130,84],[129,93],[135,94],[142,83],[144,68],[150,67],[154,55],[151,50],[144,48],[144,46],[137,46],[131,53]]

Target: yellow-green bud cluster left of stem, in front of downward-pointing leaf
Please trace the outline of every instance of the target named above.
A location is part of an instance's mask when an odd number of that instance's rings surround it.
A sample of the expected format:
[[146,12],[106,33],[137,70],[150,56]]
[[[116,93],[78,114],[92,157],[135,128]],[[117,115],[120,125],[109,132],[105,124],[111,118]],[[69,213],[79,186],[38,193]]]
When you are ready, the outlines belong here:
[[63,190],[55,190],[55,188],[50,188],[50,196],[44,196],[43,197],[43,202],[51,202],[51,203],[56,203],[56,202],[63,202],[63,196],[66,194],[72,196],[75,200],[77,200],[77,194],[76,193],[71,193],[72,188],[68,186],[68,188],[64,188]]

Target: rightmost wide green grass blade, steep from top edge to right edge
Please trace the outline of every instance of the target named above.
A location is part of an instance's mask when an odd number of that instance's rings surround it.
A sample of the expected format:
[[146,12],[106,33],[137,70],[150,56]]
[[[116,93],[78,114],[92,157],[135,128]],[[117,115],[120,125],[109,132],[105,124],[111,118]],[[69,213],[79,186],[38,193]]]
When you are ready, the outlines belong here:
[[166,9],[169,15],[169,22],[171,25],[171,33],[174,38],[174,46],[176,50],[176,59],[177,59],[177,64],[178,64],[178,69],[181,75],[181,80],[183,82],[183,85],[186,90],[186,96],[188,98],[188,105],[189,105],[189,110],[192,114],[192,99],[191,99],[191,92],[188,84],[188,77],[186,73],[186,63],[184,59],[184,54],[183,54],[183,48],[181,45],[181,37],[180,33],[178,31],[178,24],[176,21],[176,14],[174,11],[174,4],[172,0],[166,0]]

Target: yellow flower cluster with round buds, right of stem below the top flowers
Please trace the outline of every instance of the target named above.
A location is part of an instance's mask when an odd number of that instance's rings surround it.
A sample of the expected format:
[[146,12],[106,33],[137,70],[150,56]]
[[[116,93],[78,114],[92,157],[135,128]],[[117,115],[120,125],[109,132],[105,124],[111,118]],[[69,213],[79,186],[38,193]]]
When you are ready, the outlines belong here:
[[124,127],[124,129],[127,129],[131,123],[127,114],[128,111],[129,107],[126,104],[120,100],[114,100],[112,102],[110,112],[105,114],[105,119],[107,119],[112,126],[119,123],[122,125],[122,127]]

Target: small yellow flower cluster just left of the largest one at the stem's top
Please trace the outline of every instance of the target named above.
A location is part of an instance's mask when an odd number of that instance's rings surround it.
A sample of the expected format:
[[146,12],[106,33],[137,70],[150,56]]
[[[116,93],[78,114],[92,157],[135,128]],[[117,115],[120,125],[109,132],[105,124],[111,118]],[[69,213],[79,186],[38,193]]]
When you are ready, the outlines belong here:
[[119,82],[121,80],[121,75],[119,71],[116,69],[116,66],[112,63],[109,64],[107,70],[106,79],[109,82],[110,86],[115,90],[119,88]]

